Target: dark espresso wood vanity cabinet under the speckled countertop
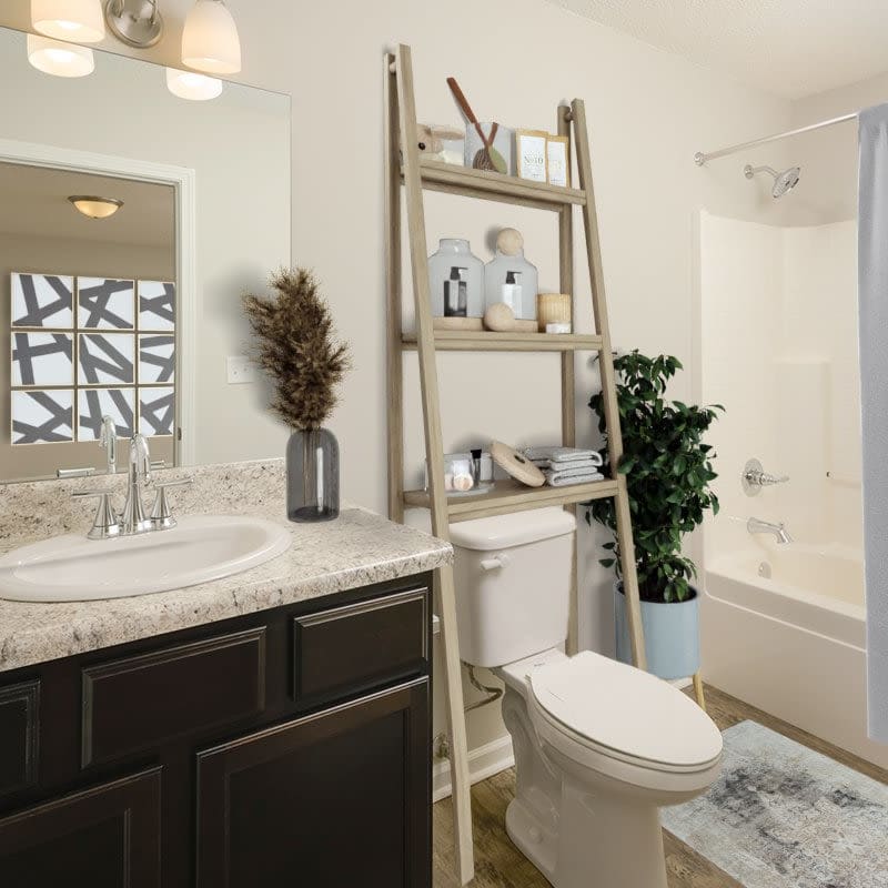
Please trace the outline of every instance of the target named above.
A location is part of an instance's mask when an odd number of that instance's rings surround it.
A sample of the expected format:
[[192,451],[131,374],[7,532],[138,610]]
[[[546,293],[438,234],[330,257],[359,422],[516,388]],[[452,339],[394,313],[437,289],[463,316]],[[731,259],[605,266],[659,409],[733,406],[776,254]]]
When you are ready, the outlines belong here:
[[430,585],[0,673],[0,886],[431,888]]

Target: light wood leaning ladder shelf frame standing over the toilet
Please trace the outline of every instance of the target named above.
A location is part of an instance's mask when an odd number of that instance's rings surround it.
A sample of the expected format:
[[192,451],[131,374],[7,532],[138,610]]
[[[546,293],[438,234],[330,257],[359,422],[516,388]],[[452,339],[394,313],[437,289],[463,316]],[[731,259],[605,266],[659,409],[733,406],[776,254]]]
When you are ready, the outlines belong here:
[[[420,155],[416,145],[416,105],[413,91],[413,69],[410,47],[401,46],[396,53],[385,57],[385,264],[387,279],[387,383],[389,383],[389,514],[403,521],[405,507],[423,507],[431,512],[432,532],[442,539],[450,538],[453,522],[503,515],[528,508],[559,505],[572,507],[589,500],[612,497],[615,503],[620,539],[623,579],[628,604],[628,625],[635,665],[646,668],[638,584],[635,575],[629,501],[626,481],[620,475],[591,484],[568,487],[522,487],[511,482],[497,482],[490,493],[475,497],[451,497],[444,491],[444,445],[438,402],[437,351],[511,351],[559,352],[562,382],[562,440],[573,446],[576,440],[574,416],[574,352],[588,350],[598,353],[608,431],[610,465],[617,465],[623,454],[604,294],[602,254],[598,242],[598,220],[592,185],[586,112],[581,99],[569,107],[557,109],[558,133],[569,135],[576,149],[579,188],[528,182],[498,173],[430,161]],[[401,147],[404,147],[403,153]],[[416,314],[416,334],[405,335],[401,329],[402,256],[401,256],[401,189],[406,196],[410,234],[411,270]],[[433,327],[428,294],[427,245],[423,190],[444,191],[466,198],[548,210],[558,214],[558,250],[561,291],[573,293],[573,208],[583,211],[586,253],[592,282],[592,310],[595,335],[547,335],[542,333],[463,333],[436,331]],[[574,306],[576,314],[576,306]],[[576,329],[576,317],[574,317]],[[404,426],[403,426],[403,355],[415,351],[420,362],[422,386],[425,455],[428,465],[430,491],[404,490]],[[576,554],[576,553],[575,553]],[[447,725],[450,730],[451,783],[453,787],[454,840],[456,862],[463,885],[474,875],[472,845],[472,809],[470,801],[468,759],[466,750],[465,714],[460,665],[460,644],[456,633],[454,581],[451,567],[436,574],[437,609],[441,619],[441,644],[444,655],[444,687],[446,690]],[[573,602],[568,649],[576,649],[576,565],[573,578]]]

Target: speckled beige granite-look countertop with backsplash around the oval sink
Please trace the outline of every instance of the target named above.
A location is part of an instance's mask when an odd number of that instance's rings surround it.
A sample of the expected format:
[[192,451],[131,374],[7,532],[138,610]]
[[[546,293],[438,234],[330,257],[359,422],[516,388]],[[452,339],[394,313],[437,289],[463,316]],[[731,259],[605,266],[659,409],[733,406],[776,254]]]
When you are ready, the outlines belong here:
[[[170,470],[157,478],[182,474]],[[287,523],[283,460],[201,466],[188,474],[194,478],[191,487],[173,494],[178,514],[268,518],[290,528],[290,549],[249,574],[138,598],[53,605],[0,601],[0,672],[434,569],[452,557],[448,545],[362,508],[346,507],[331,524]],[[127,477],[102,483],[119,500]],[[85,535],[93,505],[70,494],[90,486],[94,478],[3,487],[0,552],[62,533]]]

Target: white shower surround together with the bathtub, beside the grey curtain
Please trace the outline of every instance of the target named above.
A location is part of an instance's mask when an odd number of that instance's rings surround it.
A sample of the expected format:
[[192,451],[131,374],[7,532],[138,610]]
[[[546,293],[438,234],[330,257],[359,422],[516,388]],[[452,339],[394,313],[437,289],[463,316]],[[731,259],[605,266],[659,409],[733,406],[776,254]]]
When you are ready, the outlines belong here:
[[[836,145],[833,155],[841,157]],[[831,195],[826,168],[810,154],[799,160],[818,173],[793,200],[821,180]],[[722,511],[704,535],[706,679],[888,766],[888,747],[867,731],[857,224],[786,226],[704,212],[699,236],[699,396],[726,406],[713,431]],[[750,456],[791,480],[748,497],[741,474]],[[750,517],[784,522],[795,542],[750,536]]]

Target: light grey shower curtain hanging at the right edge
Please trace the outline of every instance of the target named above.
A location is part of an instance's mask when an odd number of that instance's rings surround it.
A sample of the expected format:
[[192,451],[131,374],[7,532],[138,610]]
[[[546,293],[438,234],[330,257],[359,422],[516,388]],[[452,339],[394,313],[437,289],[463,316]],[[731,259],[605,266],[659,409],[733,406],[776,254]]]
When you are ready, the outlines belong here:
[[860,112],[858,300],[869,736],[888,743],[888,104]]

